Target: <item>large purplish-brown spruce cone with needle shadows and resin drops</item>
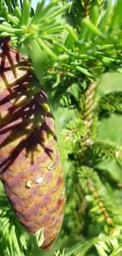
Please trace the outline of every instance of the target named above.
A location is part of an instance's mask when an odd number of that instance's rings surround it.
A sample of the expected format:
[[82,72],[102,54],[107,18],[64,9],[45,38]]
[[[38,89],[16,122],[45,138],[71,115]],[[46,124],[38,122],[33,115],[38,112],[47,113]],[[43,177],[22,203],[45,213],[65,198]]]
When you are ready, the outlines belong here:
[[19,221],[44,227],[49,250],[61,229],[65,194],[54,117],[31,65],[0,39],[0,179]]

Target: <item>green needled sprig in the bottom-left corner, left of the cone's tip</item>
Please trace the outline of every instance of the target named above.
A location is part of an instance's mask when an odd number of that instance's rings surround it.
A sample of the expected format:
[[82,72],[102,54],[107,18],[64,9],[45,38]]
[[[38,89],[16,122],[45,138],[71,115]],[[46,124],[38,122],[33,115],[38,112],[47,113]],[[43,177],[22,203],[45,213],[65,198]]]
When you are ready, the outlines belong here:
[[6,195],[1,192],[0,248],[3,256],[22,256],[27,250],[23,228],[13,213]]

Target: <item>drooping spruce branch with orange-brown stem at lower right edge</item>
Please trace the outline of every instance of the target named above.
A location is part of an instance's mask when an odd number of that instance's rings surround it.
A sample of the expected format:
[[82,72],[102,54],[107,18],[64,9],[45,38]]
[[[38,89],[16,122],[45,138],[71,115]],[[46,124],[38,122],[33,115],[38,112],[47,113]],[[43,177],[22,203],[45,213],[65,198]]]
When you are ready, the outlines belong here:
[[98,223],[100,230],[107,235],[119,230],[115,216],[120,215],[121,206],[107,195],[107,189],[98,174],[94,169],[83,166],[78,170],[78,176],[81,190],[85,193],[87,214],[92,222]]

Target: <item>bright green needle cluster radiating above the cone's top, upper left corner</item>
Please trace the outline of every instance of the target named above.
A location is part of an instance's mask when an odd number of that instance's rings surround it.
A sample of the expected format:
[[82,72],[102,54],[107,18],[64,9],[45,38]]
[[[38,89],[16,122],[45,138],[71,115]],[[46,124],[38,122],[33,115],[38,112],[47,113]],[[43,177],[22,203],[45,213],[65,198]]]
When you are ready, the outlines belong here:
[[[63,20],[58,21],[59,15],[65,12],[65,9],[68,9],[71,4],[68,3],[65,6],[58,4],[56,6],[56,2],[51,2],[45,6],[45,1],[39,2],[33,14],[31,13],[30,1],[24,0],[21,8],[19,2],[17,4],[18,6],[15,6],[15,2],[13,4],[12,1],[3,1],[2,3],[3,9],[6,11],[1,13],[5,19],[0,24],[1,37],[10,36],[13,46],[27,48],[26,54],[29,56],[28,46],[30,48],[31,39],[35,39],[47,55],[54,59],[57,58],[51,50],[48,37],[50,42],[54,39],[58,42],[63,29]],[[11,28],[9,28],[10,26]]]

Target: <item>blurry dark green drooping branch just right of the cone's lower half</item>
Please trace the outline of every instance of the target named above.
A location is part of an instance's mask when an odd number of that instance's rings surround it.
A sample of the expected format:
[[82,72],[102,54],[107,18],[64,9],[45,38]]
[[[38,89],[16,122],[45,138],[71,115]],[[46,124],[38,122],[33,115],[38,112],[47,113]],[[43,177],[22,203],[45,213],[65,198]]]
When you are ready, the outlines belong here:
[[[74,162],[75,164],[75,162]],[[75,166],[74,166],[75,168]],[[84,217],[86,212],[86,200],[83,199],[83,192],[79,186],[79,180],[72,169],[67,176],[65,221],[62,229],[62,236],[65,241],[79,239],[82,237]],[[72,193],[72,197],[70,196]],[[75,198],[75,200],[74,200]]]

